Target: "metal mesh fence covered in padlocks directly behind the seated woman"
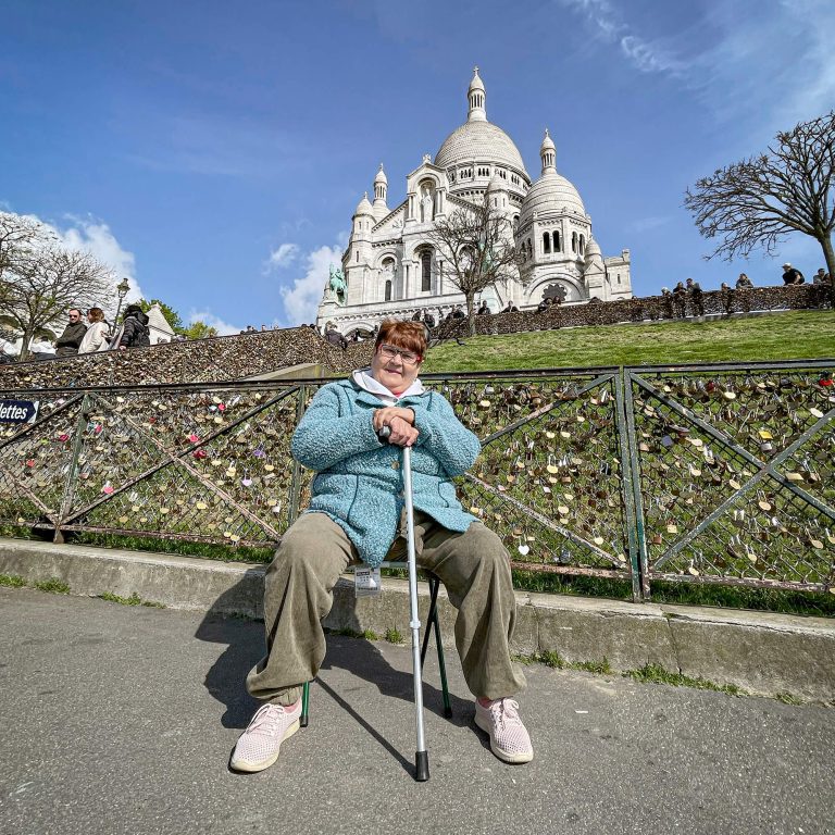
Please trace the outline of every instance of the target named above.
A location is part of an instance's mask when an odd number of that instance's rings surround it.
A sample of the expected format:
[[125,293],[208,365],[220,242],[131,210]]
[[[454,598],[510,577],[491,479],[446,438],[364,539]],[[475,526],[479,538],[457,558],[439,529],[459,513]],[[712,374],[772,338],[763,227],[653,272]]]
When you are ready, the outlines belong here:
[[[835,591],[832,361],[429,375],[483,452],[459,479],[515,568]],[[0,524],[273,546],[320,382],[14,391]],[[3,424],[0,424],[3,426]]]

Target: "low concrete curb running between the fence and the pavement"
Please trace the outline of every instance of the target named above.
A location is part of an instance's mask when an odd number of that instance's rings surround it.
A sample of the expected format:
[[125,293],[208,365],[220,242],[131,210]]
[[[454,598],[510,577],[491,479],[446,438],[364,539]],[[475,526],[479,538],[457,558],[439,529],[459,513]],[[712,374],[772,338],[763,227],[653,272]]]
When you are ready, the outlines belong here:
[[[0,539],[0,574],[29,584],[57,577],[74,595],[137,594],[173,609],[263,616],[264,566],[251,563]],[[441,597],[441,635],[451,645],[454,609]],[[420,600],[425,618],[424,584]],[[527,593],[516,600],[512,649],[520,655],[557,651],[569,662],[605,658],[618,671],[656,663],[755,694],[835,702],[830,619]],[[352,582],[340,581],[325,625],[379,635],[396,628],[408,636],[407,582],[386,579],[378,597],[356,599]]]

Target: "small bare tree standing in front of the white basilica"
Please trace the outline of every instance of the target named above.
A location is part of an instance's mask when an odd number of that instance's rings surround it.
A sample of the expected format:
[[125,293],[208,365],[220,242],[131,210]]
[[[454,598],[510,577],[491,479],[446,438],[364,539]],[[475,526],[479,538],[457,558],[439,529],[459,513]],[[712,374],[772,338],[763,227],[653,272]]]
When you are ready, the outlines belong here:
[[475,336],[476,294],[519,278],[513,225],[485,197],[437,220],[427,237],[452,267],[449,281],[466,298],[470,335]]

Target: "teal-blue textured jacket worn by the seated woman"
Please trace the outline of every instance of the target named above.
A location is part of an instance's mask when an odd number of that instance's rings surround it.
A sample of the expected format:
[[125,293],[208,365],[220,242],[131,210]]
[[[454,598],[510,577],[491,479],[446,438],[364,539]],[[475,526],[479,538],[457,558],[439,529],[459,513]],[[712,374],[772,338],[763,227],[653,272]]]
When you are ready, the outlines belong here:
[[[328,383],[304,412],[290,447],[302,466],[317,473],[306,512],[331,516],[372,566],[391,547],[403,507],[400,448],[381,443],[372,423],[374,410],[384,406],[350,379]],[[414,411],[420,433],[412,448],[415,510],[450,531],[466,531],[475,516],[461,508],[450,478],[473,465],[478,438],[436,391],[408,395],[397,406]]]

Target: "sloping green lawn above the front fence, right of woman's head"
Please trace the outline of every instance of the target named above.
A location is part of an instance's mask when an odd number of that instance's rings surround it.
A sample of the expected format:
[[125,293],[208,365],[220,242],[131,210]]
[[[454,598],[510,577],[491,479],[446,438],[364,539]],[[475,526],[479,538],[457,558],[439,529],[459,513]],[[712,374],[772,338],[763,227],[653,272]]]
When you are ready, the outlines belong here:
[[466,337],[428,351],[424,373],[828,358],[835,311]]

